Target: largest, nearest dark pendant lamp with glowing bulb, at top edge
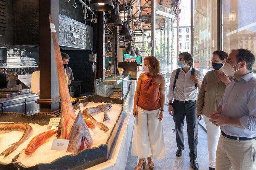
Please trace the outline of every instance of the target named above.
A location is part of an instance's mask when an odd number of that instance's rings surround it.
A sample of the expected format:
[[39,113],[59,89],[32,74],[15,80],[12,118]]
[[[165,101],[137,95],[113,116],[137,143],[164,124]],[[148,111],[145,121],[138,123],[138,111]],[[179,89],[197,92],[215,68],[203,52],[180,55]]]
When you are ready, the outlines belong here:
[[91,0],[89,7],[95,11],[111,11],[115,6],[112,0]]

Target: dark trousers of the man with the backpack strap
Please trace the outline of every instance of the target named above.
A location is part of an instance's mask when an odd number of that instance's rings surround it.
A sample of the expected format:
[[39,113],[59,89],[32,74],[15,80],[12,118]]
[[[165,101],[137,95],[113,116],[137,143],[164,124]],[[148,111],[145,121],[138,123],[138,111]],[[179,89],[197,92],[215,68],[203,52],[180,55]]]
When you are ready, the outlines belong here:
[[184,149],[183,126],[186,116],[188,131],[188,146],[190,148],[190,159],[196,160],[198,144],[198,120],[196,117],[196,101],[193,103],[181,103],[173,101],[173,120],[175,122],[176,142],[178,148]]

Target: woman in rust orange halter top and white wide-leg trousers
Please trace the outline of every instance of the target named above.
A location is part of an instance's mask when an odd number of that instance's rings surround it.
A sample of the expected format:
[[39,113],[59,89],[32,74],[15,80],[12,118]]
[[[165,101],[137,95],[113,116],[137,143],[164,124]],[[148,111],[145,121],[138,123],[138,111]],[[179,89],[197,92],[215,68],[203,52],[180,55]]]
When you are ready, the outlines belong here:
[[163,132],[165,80],[158,73],[160,63],[154,56],[144,59],[144,73],[139,76],[134,95],[134,122],[131,155],[139,157],[135,170],[145,169],[146,159],[149,169],[154,168],[151,159],[165,158]]

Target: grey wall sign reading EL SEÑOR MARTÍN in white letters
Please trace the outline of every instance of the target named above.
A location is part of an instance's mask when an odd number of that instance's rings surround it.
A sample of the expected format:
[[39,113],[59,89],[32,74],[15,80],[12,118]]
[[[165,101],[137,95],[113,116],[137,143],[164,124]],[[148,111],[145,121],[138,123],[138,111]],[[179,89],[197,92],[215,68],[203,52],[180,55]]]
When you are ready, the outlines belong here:
[[[93,29],[88,25],[87,29],[92,43]],[[59,44],[63,46],[89,49],[89,40],[85,24],[59,14]]]

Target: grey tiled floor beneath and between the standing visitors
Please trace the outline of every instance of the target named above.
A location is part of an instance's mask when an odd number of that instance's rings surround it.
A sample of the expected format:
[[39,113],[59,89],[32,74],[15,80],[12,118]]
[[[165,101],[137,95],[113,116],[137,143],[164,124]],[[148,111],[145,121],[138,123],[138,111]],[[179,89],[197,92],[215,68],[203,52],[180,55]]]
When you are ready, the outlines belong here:
[[[168,108],[165,106],[164,113],[164,136],[165,136],[165,149],[167,157],[165,159],[154,159],[155,170],[190,170],[189,148],[188,148],[188,136],[186,131],[186,123],[184,126],[184,140],[185,150],[181,157],[176,157],[177,145],[175,139],[175,133],[172,129],[175,129],[172,116],[168,113]],[[207,148],[207,136],[206,132],[198,126],[198,164],[199,170],[208,170],[208,148]],[[134,170],[138,162],[137,157],[131,156],[131,146],[128,154],[125,170]],[[148,170],[148,166],[146,167]]]

